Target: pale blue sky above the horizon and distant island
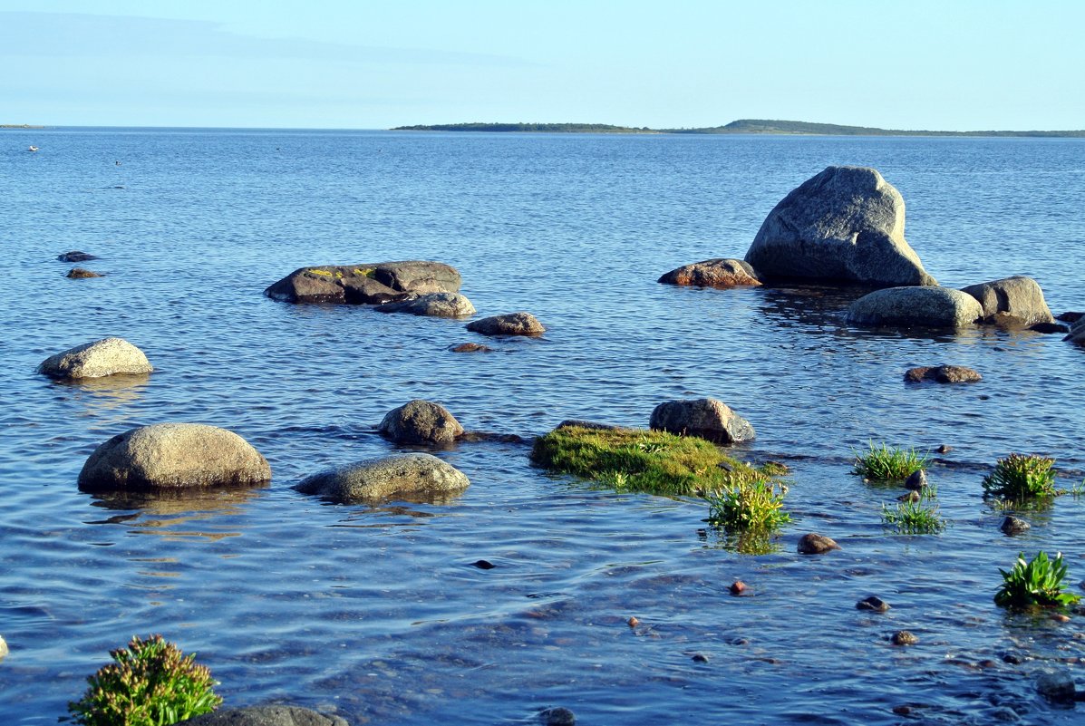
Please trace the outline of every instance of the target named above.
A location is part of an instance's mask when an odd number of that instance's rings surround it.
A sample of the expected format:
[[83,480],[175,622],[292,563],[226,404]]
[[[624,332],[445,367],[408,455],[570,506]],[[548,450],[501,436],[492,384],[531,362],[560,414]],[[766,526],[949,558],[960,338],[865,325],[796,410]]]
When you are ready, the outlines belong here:
[[1082,0],[0,0],[0,124],[1085,129]]

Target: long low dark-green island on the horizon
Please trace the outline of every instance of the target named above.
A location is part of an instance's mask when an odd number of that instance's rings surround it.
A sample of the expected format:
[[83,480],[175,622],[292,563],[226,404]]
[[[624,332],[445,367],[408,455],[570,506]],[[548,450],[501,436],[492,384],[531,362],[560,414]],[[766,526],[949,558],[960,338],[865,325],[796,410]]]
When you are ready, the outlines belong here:
[[612,126],[610,124],[438,124],[435,126],[398,126],[393,131],[501,131],[545,133],[770,133],[786,136],[965,136],[965,137],[1050,137],[1085,138],[1077,131],[909,131],[871,126],[842,126],[810,122],[740,118],[724,126],[704,128],[661,128],[647,126]]

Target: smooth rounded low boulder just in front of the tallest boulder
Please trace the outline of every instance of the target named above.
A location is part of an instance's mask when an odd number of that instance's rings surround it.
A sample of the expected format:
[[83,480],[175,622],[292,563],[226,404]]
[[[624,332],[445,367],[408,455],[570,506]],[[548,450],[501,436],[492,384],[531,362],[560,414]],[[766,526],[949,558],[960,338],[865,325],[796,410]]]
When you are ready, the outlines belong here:
[[963,328],[982,315],[974,297],[950,288],[876,290],[847,308],[847,321],[858,326]]

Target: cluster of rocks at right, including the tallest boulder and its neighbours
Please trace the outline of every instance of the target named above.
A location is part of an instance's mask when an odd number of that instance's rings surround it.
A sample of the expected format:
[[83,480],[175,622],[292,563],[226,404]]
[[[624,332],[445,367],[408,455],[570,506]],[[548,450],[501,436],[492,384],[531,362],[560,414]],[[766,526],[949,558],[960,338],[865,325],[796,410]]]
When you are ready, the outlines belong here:
[[[779,282],[879,288],[846,313],[857,326],[961,328],[975,323],[1067,332],[1032,278],[942,288],[904,238],[904,199],[876,169],[830,166],[768,214],[743,259],[674,269],[660,282],[733,288]],[[1085,343],[1085,327],[1076,337]]]

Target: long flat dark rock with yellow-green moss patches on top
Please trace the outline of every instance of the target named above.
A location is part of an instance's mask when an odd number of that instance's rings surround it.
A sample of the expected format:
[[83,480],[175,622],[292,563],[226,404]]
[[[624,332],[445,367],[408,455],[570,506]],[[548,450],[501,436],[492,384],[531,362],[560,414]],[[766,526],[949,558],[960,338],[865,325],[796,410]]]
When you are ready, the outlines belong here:
[[460,273],[444,263],[409,260],[303,267],[264,294],[288,303],[380,305],[431,292],[459,292]]

